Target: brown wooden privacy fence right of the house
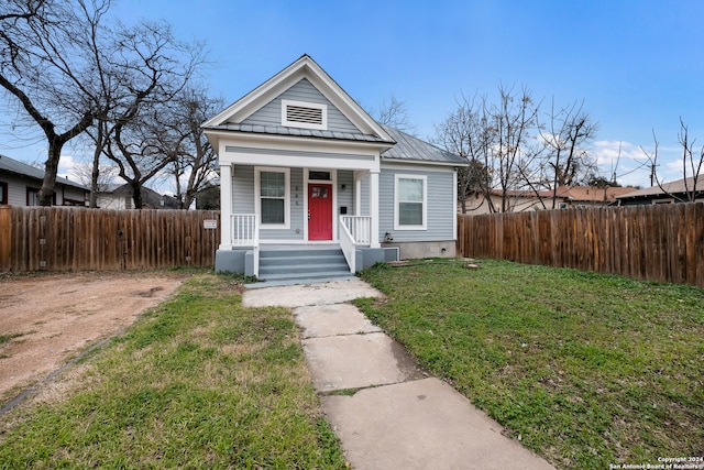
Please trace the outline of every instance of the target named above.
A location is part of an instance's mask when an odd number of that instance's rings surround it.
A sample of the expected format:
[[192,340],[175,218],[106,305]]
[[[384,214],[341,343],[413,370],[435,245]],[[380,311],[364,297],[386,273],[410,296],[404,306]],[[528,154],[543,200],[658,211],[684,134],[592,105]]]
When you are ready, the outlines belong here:
[[460,215],[458,251],[704,287],[704,204]]

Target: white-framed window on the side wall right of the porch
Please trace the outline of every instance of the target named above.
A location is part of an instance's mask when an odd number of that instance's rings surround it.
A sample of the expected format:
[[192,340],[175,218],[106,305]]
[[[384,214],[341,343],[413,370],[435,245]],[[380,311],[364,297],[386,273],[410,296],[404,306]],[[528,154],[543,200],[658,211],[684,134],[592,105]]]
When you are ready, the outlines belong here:
[[428,199],[426,176],[396,175],[395,183],[395,229],[426,230],[426,200]]

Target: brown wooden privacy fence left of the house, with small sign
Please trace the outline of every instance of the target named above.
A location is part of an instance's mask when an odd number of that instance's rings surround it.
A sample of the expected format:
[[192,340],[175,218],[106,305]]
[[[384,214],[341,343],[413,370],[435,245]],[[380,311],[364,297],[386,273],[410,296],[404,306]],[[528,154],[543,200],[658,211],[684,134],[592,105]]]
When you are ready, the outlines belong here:
[[3,272],[210,266],[219,243],[219,211],[0,206]]

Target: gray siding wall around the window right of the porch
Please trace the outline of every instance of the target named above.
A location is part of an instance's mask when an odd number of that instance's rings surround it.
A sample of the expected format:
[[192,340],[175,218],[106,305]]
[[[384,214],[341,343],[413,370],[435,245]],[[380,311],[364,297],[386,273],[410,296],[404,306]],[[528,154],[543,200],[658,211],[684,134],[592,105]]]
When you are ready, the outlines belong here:
[[[427,230],[394,230],[394,177],[396,174],[427,176]],[[380,240],[391,232],[396,242],[452,240],[455,201],[452,172],[382,170],[380,174]]]

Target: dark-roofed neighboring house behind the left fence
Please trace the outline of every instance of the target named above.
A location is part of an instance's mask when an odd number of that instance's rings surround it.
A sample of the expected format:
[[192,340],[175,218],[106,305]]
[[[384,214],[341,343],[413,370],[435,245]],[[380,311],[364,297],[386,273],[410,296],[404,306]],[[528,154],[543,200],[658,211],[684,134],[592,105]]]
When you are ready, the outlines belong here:
[[[37,206],[44,172],[0,155],[0,205]],[[61,176],[54,185],[53,206],[85,206],[90,195],[86,186]]]

